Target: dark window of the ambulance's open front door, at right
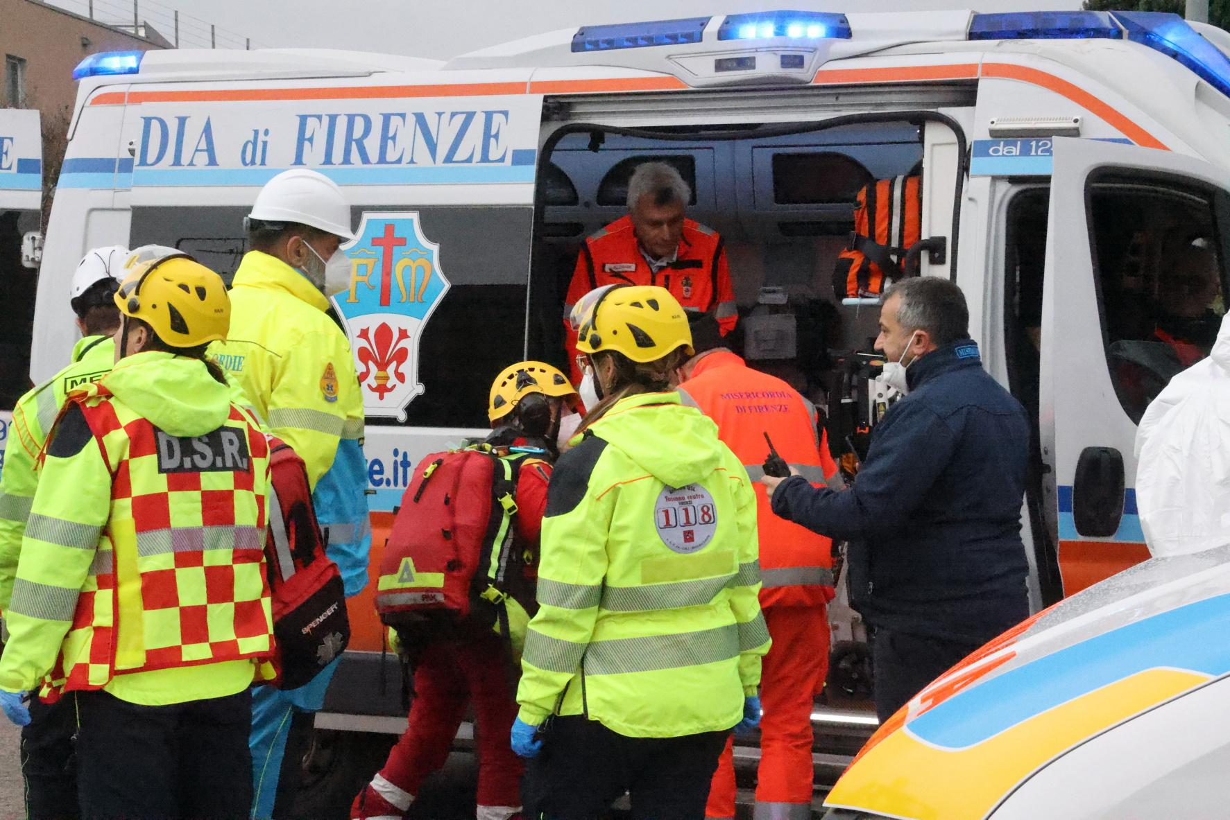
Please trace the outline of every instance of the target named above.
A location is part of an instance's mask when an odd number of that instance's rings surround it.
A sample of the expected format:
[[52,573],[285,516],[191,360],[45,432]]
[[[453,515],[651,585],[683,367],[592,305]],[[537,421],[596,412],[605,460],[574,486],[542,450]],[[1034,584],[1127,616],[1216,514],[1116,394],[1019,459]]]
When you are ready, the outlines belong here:
[[1111,379],[1139,422],[1162,387],[1213,348],[1230,237],[1212,194],[1181,182],[1103,175],[1087,197]]

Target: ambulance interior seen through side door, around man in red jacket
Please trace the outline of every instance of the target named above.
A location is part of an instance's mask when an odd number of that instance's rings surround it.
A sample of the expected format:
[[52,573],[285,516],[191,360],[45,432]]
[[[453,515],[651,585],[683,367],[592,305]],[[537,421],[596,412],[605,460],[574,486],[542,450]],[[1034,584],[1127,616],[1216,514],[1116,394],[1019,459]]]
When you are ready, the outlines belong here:
[[539,171],[531,355],[565,363],[561,310],[581,245],[627,213],[632,171],[664,161],[692,191],[688,218],[722,237],[739,309],[729,345],[822,411],[839,398],[845,354],[871,350],[879,309],[843,305],[834,267],[859,191],[920,166],[921,123],[562,130]]

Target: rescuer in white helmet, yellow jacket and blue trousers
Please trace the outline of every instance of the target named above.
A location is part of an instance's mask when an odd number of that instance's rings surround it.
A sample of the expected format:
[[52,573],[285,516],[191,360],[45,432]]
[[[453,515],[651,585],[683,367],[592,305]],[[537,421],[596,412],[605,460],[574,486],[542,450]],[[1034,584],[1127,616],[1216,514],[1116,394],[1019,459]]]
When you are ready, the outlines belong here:
[[[339,246],[354,239],[351,205],[328,177],[283,171],[245,220],[248,246],[230,291],[231,329],[210,354],[230,371],[264,428],[308,466],[312,504],[347,596],[368,580],[371,527],[363,456],[363,397],[346,333],[325,312],[351,282]],[[295,792],[337,659],[296,690],[261,687],[252,706],[257,820]]]

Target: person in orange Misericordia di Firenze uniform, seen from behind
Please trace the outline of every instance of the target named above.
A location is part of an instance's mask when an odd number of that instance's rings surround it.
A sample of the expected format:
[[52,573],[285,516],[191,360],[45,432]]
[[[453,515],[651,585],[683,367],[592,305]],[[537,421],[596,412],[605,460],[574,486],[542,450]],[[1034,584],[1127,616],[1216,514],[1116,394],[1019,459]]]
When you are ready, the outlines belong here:
[[[692,357],[681,369],[679,392],[717,422],[717,434],[754,479],[769,455],[765,433],[779,455],[809,481],[838,482],[828,441],[817,433],[815,408],[781,379],[753,370],[721,347],[712,318],[692,323]],[[760,770],[756,820],[812,816],[812,701],[829,668],[833,558],[829,538],[772,514],[756,491],[760,535],[760,606],[772,647],[760,679]],[[713,776],[707,818],[734,818],[731,744]]]

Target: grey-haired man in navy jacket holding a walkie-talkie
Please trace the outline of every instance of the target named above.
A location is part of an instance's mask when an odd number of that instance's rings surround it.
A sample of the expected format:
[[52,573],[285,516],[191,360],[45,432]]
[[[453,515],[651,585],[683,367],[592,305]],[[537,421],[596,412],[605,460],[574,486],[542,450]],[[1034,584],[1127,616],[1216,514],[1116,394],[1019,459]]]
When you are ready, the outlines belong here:
[[957,285],[905,279],[876,349],[905,395],[876,427],[845,492],[761,481],[772,510],[850,542],[850,595],[872,627],[883,722],[941,672],[1030,613],[1021,504],[1030,427],[983,370]]

